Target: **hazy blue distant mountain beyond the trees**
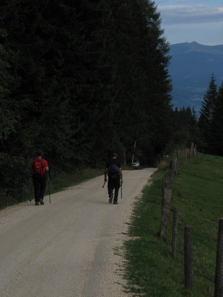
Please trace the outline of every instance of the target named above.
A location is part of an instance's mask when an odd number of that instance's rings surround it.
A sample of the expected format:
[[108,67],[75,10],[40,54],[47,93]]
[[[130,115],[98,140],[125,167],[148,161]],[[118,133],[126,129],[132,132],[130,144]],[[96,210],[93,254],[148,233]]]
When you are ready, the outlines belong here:
[[172,79],[173,107],[190,106],[198,112],[212,73],[216,85],[223,82],[223,45],[205,46],[197,42],[170,45],[169,75]]

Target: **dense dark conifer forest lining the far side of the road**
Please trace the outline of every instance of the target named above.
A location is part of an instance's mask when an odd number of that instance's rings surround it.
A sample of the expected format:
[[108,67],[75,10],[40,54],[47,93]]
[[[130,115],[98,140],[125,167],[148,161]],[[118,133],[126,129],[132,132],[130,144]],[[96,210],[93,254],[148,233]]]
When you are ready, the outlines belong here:
[[205,116],[172,109],[168,52],[150,0],[1,0],[0,197],[23,196],[37,149],[56,174],[103,167],[111,150],[130,159],[135,141],[143,164],[215,146]]

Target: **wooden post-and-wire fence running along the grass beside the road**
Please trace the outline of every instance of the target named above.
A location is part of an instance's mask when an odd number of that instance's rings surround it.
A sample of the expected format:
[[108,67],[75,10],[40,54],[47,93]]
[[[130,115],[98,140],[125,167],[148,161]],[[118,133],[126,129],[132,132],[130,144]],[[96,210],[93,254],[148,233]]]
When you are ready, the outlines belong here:
[[[167,175],[163,178],[163,191],[162,191],[162,219],[160,237],[167,240],[167,226],[169,220],[169,210],[171,201],[171,181],[174,175],[178,174],[178,159],[188,158],[189,156],[196,155],[197,148],[191,144],[191,148],[182,150],[174,150],[171,155],[170,169],[167,170]],[[177,234],[178,217],[184,224],[184,244],[180,241]],[[217,241],[213,238],[193,234],[197,237]],[[176,260],[176,244],[179,239],[180,244],[184,248],[184,284],[189,290],[193,290],[193,265],[195,264],[192,259],[192,226],[187,226],[184,219],[180,216],[178,208],[174,207],[173,224],[172,224],[172,257]],[[199,266],[203,271],[204,267]],[[211,276],[204,275],[207,279],[212,280]],[[219,234],[217,242],[217,259],[216,259],[216,275],[215,275],[215,297],[223,297],[223,218],[219,221]]]

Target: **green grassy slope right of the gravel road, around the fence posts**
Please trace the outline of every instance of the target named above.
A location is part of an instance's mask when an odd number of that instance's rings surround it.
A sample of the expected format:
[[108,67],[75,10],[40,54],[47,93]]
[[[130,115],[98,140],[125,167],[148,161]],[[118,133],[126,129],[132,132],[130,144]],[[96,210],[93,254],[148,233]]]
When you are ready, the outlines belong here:
[[[162,167],[162,168],[165,168]],[[198,154],[179,160],[172,181],[167,241],[159,238],[162,183],[166,168],[153,174],[135,204],[125,243],[126,278],[134,296],[214,296],[218,222],[223,216],[223,157]],[[179,209],[177,260],[171,256],[173,208]],[[194,290],[184,289],[184,226],[193,228]]]

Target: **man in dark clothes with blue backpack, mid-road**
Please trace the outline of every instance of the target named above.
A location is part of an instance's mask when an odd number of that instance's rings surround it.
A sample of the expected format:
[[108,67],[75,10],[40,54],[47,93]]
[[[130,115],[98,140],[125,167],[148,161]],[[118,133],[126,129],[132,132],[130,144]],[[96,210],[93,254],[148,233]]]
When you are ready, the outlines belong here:
[[[108,181],[108,192],[109,192],[109,203],[117,204],[117,198],[118,198],[118,191],[120,188],[120,184],[123,183],[122,179],[122,170],[121,170],[121,164],[119,160],[117,159],[117,153],[112,153],[112,158],[106,163],[105,168],[105,182],[107,181],[107,174],[109,177]],[[113,195],[114,190],[114,195]]]

